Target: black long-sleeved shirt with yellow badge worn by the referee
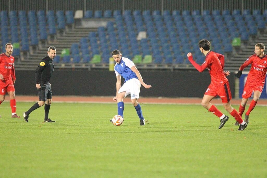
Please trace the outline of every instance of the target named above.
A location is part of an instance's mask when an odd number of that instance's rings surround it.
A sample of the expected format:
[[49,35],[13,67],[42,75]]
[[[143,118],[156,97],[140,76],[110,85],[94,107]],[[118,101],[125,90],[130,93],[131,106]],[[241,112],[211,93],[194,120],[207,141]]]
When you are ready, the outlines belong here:
[[54,71],[54,62],[49,56],[44,57],[35,70],[36,84],[50,82],[51,74]]

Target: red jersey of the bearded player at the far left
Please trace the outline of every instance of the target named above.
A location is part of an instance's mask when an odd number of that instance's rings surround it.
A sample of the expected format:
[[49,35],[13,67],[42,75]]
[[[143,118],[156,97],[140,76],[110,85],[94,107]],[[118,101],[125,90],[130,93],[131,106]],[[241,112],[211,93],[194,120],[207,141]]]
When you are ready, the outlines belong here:
[[7,56],[5,53],[0,54],[0,74],[3,75],[5,81],[16,80],[13,56]]

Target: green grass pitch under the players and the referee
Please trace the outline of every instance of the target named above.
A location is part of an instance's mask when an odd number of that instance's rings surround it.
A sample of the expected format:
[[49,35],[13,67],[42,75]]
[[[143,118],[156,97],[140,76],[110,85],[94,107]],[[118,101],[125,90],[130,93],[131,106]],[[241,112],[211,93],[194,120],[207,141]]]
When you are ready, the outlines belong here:
[[[33,104],[18,102],[18,115]],[[256,106],[238,131],[222,106],[221,130],[200,105],[141,106],[145,126],[131,104],[114,126],[116,103],[52,103],[55,123],[43,123],[44,106],[26,123],[3,102],[0,177],[267,177],[267,107]]]

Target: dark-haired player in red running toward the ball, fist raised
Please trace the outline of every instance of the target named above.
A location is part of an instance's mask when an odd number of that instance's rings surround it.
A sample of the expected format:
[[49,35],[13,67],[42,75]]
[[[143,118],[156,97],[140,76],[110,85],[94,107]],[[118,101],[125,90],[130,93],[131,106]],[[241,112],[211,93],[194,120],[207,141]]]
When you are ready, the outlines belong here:
[[203,64],[201,66],[198,65],[193,60],[191,53],[188,53],[187,57],[191,64],[193,64],[193,66],[199,72],[203,72],[206,68],[208,68],[210,73],[211,84],[208,86],[203,96],[201,105],[221,119],[219,126],[219,129],[221,129],[224,126],[225,122],[229,119],[229,117],[224,115],[216,108],[216,106],[210,103],[210,101],[218,95],[222,99],[223,107],[225,108],[225,110],[229,112],[240,124],[238,130],[244,130],[247,127],[247,124],[242,120],[237,110],[232,108],[230,104],[232,97],[229,82],[226,78],[227,75],[230,75],[230,72],[223,71],[224,56],[222,54],[210,51],[210,42],[207,39],[202,39],[201,41],[199,41],[198,46],[201,53],[206,56]]

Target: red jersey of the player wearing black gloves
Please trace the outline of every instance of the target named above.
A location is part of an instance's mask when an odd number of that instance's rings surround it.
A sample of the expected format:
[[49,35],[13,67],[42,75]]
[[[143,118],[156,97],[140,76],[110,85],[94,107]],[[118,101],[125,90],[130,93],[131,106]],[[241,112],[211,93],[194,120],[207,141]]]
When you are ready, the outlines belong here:
[[267,72],[267,55],[264,57],[256,56],[253,54],[250,56],[246,62],[242,66],[240,66],[239,70],[243,70],[249,64],[251,64],[251,68],[248,74],[247,81],[251,83],[265,83],[265,75]]

